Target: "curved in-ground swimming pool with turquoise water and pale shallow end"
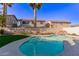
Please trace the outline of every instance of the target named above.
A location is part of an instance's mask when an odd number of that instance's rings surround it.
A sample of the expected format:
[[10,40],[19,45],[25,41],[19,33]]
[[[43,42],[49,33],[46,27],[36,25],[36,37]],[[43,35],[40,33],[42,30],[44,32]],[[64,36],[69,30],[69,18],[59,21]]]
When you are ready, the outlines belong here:
[[19,50],[27,56],[55,56],[64,51],[64,42],[59,39],[64,39],[65,36],[57,37],[57,35],[49,36],[56,40],[46,40],[40,36],[30,37],[24,42]]

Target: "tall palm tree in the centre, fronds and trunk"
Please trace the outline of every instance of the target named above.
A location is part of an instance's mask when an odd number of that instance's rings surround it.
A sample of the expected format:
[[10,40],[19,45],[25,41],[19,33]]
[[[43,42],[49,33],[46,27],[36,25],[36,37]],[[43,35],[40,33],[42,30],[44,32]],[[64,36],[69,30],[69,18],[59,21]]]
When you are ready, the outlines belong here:
[[30,6],[32,7],[34,11],[34,27],[37,27],[37,16],[36,16],[36,10],[40,9],[42,6],[42,3],[30,3]]

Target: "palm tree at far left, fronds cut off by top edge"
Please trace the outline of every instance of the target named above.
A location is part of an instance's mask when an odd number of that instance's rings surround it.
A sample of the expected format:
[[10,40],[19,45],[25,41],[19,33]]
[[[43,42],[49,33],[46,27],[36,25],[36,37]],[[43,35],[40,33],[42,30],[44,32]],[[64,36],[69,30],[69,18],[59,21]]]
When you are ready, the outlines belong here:
[[3,5],[3,17],[4,17],[2,21],[2,24],[3,24],[2,26],[6,26],[5,21],[6,21],[6,15],[7,15],[7,6],[12,7],[13,3],[1,3],[1,4]]

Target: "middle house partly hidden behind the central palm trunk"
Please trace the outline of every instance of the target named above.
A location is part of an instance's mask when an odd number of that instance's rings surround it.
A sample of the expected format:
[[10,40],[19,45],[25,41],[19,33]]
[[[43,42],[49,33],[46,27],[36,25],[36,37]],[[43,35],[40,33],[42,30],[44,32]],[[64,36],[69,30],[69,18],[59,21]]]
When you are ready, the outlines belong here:
[[[20,19],[20,25],[22,27],[34,27],[34,20],[32,19]],[[37,20],[37,27],[44,27],[45,20]]]

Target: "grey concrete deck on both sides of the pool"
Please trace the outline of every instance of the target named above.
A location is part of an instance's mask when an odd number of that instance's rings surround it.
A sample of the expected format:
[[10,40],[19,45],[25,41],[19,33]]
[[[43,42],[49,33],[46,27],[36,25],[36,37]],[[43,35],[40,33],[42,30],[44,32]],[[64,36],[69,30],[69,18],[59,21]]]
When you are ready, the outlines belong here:
[[[19,46],[26,42],[27,38],[12,42],[2,48],[0,48],[0,56],[24,56],[19,51]],[[79,56],[79,39],[75,40],[76,45],[71,46],[68,42],[64,43],[64,51],[58,56]]]

